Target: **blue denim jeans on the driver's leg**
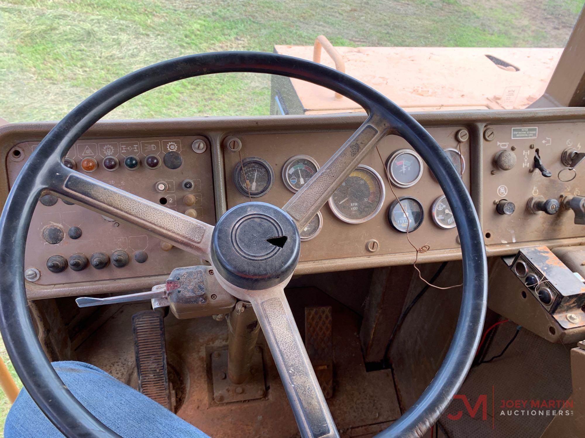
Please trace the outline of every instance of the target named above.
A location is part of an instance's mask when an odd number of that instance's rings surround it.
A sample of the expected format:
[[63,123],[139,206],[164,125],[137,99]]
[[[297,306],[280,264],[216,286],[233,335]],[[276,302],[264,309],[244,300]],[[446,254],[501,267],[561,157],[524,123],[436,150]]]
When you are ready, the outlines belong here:
[[[54,362],[53,367],[73,395],[104,425],[124,438],[208,436],[157,402],[83,362]],[[62,438],[23,388],[4,426],[5,438]]]

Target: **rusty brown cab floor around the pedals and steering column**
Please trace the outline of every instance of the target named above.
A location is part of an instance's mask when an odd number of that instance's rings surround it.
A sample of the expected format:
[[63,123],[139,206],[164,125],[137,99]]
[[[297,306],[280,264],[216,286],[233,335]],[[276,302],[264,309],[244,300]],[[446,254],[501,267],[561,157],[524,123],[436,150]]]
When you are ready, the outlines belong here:
[[[397,419],[400,409],[391,371],[365,371],[357,336],[359,315],[315,288],[296,288],[287,294],[297,321],[302,321],[305,305],[332,306],[336,321],[333,326],[336,390],[328,404],[342,436],[371,436]],[[78,359],[133,385],[131,315],[133,309],[140,308],[144,305],[123,306],[78,348]],[[181,418],[215,438],[298,437],[297,425],[270,354],[264,356],[265,398],[217,404],[212,399],[211,367],[207,368],[206,363],[208,354],[228,342],[225,322],[211,317],[178,320],[171,315],[164,322],[168,366],[178,370],[185,383],[184,404],[177,412]],[[302,324],[301,330],[304,332]],[[268,352],[263,336],[259,343]]]

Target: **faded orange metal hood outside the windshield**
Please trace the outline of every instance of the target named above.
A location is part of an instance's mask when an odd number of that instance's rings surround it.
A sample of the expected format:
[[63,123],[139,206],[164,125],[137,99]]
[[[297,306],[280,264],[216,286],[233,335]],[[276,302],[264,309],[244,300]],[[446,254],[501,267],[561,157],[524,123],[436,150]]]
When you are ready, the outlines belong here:
[[[535,102],[562,48],[335,47],[347,74],[411,110],[518,109]],[[312,46],[274,46],[276,53],[312,59]],[[519,68],[498,67],[486,55]],[[322,63],[334,67],[329,59]],[[320,86],[291,79],[305,113],[363,111]],[[519,85],[522,86],[519,86]]]

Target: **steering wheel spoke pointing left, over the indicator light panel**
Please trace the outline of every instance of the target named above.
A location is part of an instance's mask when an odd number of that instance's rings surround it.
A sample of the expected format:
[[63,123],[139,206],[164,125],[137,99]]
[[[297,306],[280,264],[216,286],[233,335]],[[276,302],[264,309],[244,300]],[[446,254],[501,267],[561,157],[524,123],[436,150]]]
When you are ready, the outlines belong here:
[[49,190],[90,210],[126,221],[156,237],[209,260],[213,225],[110,186],[64,165]]

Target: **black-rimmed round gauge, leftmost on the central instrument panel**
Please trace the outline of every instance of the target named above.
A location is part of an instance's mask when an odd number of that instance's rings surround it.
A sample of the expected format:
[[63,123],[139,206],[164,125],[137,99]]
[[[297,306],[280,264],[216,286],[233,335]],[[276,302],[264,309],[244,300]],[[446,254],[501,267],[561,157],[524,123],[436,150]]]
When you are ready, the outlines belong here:
[[[243,172],[242,165],[244,166]],[[242,164],[236,164],[233,169],[233,183],[244,196],[250,194],[251,197],[257,198],[268,193],[271,189],[274,184],[274,171],[265,159],[244,158]]]

